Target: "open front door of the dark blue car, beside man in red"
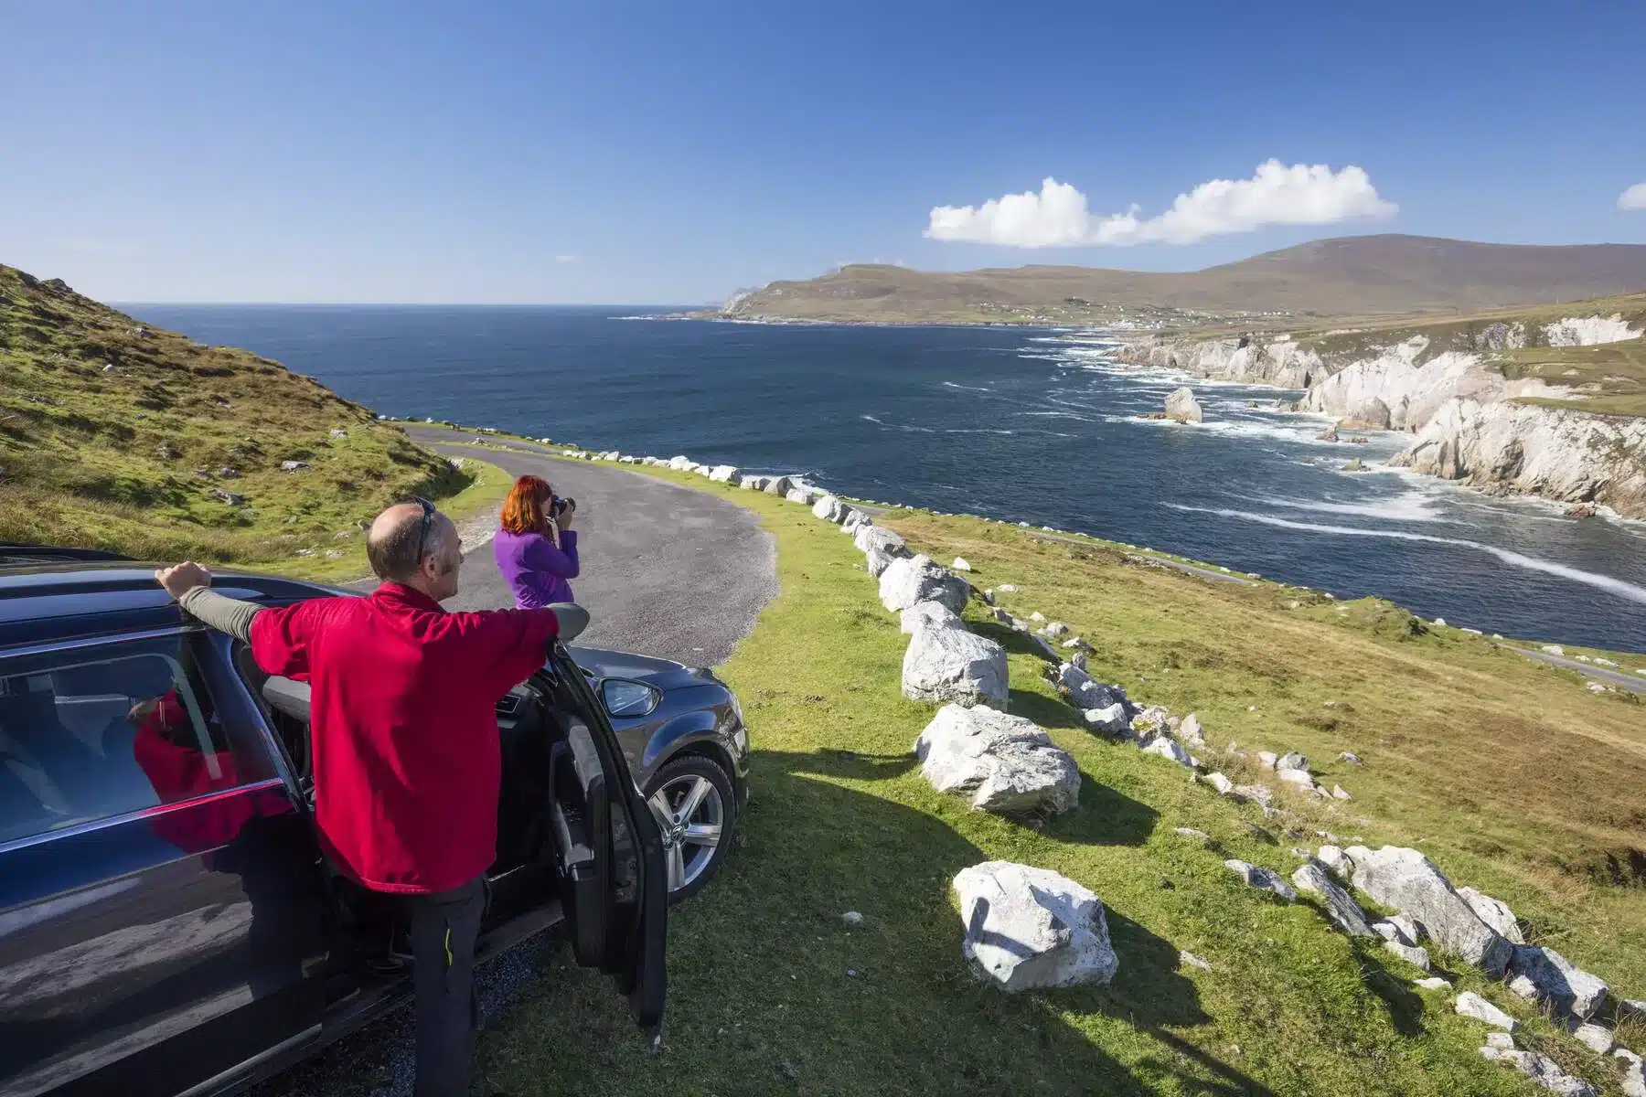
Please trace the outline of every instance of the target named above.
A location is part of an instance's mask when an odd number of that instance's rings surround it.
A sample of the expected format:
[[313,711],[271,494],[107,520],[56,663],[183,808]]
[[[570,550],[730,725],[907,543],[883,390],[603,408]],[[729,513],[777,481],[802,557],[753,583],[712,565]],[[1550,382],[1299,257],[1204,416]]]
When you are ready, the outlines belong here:
[[573,956],[611,974],[640,1028],[660,1036],[668,947],[662,831],[565,645],[550,648],[528,684],[565,719],[563,734],[550,732],[548,829]]

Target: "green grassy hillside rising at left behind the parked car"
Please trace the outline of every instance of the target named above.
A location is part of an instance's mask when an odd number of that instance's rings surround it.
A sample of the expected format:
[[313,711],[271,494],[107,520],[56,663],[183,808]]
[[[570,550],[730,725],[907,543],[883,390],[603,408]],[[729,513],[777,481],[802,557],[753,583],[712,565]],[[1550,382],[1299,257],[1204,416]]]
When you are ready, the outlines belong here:
[[10,266],[0,469],[0,541],[318,574],[362,571],[359,523],[395,498],[499,490],[311,377]]

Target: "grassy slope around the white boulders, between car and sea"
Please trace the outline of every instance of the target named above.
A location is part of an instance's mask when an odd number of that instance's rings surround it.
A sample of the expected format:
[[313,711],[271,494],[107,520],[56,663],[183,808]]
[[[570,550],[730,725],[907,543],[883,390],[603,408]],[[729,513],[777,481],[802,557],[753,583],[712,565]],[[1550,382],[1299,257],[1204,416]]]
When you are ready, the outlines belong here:
[[[726,872],[672,916],[662,1049],[642,1044],[602,979],[555,956],[484,1036],[481,1092],[1527,1092],[1480,1059],[1483,1031],[1450,1011],[1448,995],[1409,985],[1414,969],[1221,867],[1241,857],[1289,873],[1287,845],[1318,844],[1307,835],[1317,826],[1420,845],[1620,990],[1646,985],[1641,891],[1593,872],[1598,850],[1638,840],[1638,706],[1592,697],[1577,676],[1473,636],[1414,635],[1388,604],[1289,610],[1295,592],[1272,584],[1210,584],[1113,551],[910,515],[894,525],[917,546],[966,556],[979,584],[1019,584],[1016,609],[1039,607],[1093,640],[1098,674],[1198,711],[1215,745],[1302,748],[1356,794],[1337,809],[1292,804],[1307,837],[1271,822],[1259,839],[1254,811],[1078,729],[1040,660],[973,612],[1009,646],[1012,709],[1086,775],[1078,811],[997,819],[920,778],[910,745],[933,707],[899,696],[904,636],[849,538],[775,498],[652,474],[756,508],[777,538],[782,594],[723,668],[754,738],[756,801]],[[1335,763],[1343,748],[1368,765]],[[1177,826],[1220,849],[1177,837]],[[948,882],[996,857],[1103,896],[1121,959],[1111,987],[1007,997],[971,977]],[[844,926],[848,910],[864,924]],[[1182,967],[1180,949],[1213,970]],[[1592,1077],[1610,1069],[1452,967],[1460,988],[1527,1023],[1523,1043]]]

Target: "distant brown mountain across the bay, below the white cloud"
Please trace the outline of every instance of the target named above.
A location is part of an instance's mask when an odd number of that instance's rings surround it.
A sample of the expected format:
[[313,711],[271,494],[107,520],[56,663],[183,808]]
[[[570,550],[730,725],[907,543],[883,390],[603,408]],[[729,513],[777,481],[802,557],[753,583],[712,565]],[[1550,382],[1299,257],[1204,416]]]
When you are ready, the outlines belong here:
[[1193,319],[1185,312],[1406,316],[1646,289],[1646,245],[1541,247],[1437,237],[1314,240],[1193,273],[1017,266],[940,273],[851,265],[775,281],[724,312],[858,322]]

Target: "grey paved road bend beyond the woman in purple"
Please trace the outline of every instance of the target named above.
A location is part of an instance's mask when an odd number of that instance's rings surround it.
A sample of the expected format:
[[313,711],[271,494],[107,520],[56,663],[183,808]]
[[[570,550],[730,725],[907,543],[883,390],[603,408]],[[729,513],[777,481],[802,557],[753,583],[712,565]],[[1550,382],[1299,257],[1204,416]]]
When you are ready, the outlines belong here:
[[[777,548],[754,511],[621,465],[538,457],[515,449],[433,446],[481,457],[514,475],[540,475],[578,500],[571,581],[589,628],[578,643],[688,664],[724,663],[777,594]],[[514,605],[491,543],[464,558],[448,609]]]

